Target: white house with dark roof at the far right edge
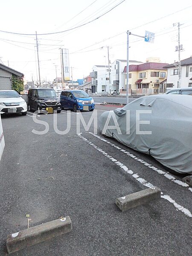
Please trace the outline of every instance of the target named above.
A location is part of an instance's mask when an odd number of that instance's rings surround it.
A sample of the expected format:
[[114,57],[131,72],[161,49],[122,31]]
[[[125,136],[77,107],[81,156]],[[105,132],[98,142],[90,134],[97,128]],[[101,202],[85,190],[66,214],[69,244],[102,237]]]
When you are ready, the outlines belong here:
[[[192,87],[192,56],[186,58],[181,63],[181,79],[180,79],[180,87]],[[166,81],[166,90],[170,90],[173,88],[178,88],[178,62],[173,64],[169,64],[165,66],[167,69],[167,81]]]

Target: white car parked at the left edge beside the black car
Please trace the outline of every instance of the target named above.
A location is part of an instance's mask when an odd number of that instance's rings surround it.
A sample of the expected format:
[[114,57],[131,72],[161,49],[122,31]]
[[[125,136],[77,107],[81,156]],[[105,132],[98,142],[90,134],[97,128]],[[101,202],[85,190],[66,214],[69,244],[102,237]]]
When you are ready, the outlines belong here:
[[0,114],[27,113],[26,101],[15,90],[0,90]]

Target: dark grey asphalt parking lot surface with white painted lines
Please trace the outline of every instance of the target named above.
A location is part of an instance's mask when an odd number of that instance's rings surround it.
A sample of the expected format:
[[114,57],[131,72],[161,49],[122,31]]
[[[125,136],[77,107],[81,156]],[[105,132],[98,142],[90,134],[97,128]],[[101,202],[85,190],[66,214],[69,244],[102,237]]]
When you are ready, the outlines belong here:
[[[113,106],[96,105],[98,116]],[[93,112],[82,112],[86,123]],[[73,230],[23,249],[13,256],[191,255],[192,188],[183,175],[170,173],[152,157],[80,127],[80,113],[69,112],[70,131],[54,131],[53,115],[37,119],[3,116],[5,149],[0,162],[0,255],[6,236],[69,215]],[[67,128],[67,111],[57,114],[57,128]],[[162,197],[127,212],[116,198],[157,186]]]

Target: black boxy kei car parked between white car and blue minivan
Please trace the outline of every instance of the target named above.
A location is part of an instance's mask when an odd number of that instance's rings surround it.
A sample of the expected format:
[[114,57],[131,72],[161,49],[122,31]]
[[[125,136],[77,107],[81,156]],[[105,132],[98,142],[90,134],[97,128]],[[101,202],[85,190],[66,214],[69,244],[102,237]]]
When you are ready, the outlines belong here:
[[28,109],[40,113],[41,110],[56,110],[61,112],[60,98],[57,97],[55,90],[51,88],[33,88],[28,91]]

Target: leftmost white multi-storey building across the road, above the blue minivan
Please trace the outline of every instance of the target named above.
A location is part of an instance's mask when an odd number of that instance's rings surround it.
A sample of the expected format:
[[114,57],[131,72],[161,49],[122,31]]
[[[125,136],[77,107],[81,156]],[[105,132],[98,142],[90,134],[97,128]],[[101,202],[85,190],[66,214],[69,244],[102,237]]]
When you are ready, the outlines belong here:
[[[111,70],[111,66],[110,66]],[[111,71],[110,71],[111,72]],[[92,78],[91,93],[108,94],[109,93],[109,68],[108,66],[95,65],[90,73]]]

